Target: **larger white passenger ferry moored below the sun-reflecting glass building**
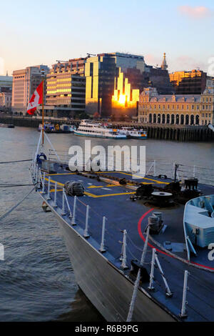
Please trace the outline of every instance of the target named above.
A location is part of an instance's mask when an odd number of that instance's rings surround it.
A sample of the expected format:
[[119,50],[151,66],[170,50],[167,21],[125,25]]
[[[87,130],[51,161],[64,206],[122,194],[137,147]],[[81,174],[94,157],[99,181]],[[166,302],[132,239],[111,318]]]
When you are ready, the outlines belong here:
[[118,129],[109,129],[103,124],[94,124],[89,120],[82,120],[78,129],[74,130],[74,134],[85,137],[99,137],[111,139],[126,139],[126,134],[121,134]]

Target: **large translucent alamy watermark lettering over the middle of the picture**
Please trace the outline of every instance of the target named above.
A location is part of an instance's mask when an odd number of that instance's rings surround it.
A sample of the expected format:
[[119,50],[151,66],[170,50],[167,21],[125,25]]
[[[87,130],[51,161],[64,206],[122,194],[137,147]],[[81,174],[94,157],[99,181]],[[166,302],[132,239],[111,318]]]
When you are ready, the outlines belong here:
[[146,175],[146,146],[103,146],[91,147],[91,140],[85,140],[85,147],[71,146],[68,166],[71,172],[122,171],[131,172],[135,178]]

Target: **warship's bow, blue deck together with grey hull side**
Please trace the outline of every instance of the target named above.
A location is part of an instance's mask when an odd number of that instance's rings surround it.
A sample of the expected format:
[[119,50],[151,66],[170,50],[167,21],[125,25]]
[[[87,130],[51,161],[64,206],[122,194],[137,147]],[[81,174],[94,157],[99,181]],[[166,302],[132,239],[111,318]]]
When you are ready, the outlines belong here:
[[[42,169],[42,165],[39,164],[39,166]],[[175,202],[172,207],[159,209],[145,200],[131,202],[131,195],[136,194],[133,186],[128,183],[121,185],[117,182],[124,177],[131,179],[129,173],[108,172],[108,177],[97,179],[97,176],[103,175],[102,172],[76,174],[68,171],[66,164],[53,162],[51,167],[52,174],[46,172],[45,175],[43,192],[41,189],[38,191],[61,225],[78,285],[106,320],[126,321],[127,319],[133,285],[136,281],[135,273],[131,272],[131,262],[141,260],[145,242],[144,232],[148,217],[154,211],[162,212],[164,226],[159,234],[150,236],[143,266],[150,274],[152,249],[155,247],[173,296],[165,295],[161,272],[158,268],[155,269],[154,290],[148,290],[148,282],[141,282],[138,287],[132,320],[181,320],[185,270],[190,272],[187,293],[188,314],[185,321],[214,320],[214,262],[208,260],[208,249],[200,250],[197,257],[191,257],[190,263],[186,261],[183,234],[184,205]],[[83,197],[77,197],[76,201],[76,225],[71,222],[74,197],[67,196],[68,204],[64,203],[63,206],[63,186],[68,181],[81,182],[85,187]],[[151,176],[137,181],[143,184],[152,183],[154,187],[164,187],[171,182],[170,179]],[[55,185],[57,185],[56,192]],[[212,186],[200,184],[199,187],[203,194],[214,194]],[[85,231],[87,205],[89,206],[88,232]],[[103,216],[106,217],[106,252],[100,252]],[[125,270],[121,269],[123,246],[121,242],[124,229],[127,230],[126,265],[128,267]],[[89,237],[85,237],[87,235]],[[170,251],[168,251],[169,242]]]

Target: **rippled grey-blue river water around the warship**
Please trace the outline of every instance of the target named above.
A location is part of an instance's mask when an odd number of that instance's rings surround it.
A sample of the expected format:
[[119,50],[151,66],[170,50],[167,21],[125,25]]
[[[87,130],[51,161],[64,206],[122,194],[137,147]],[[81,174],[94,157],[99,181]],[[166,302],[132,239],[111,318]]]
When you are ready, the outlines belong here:
[[[83,146],[83,137],[50,134],[57,150]],[[0,162],[31,159],[39,139],[36,129],[0,128]],[[117,144],[136,145],[138,140]],[[111,139],[91,138],[91,146],[113,145]],[[146,159],[213,168],[212,142],[170,142],[146,139]],[[0,164],[0,184],[30,184],[30,162]],[[0,186],[0,217],[30,190]],[[78,289],[66,247],[54,215],[44,213],[33,192],[0,222],[0,321],[101,321],[103,318]]]

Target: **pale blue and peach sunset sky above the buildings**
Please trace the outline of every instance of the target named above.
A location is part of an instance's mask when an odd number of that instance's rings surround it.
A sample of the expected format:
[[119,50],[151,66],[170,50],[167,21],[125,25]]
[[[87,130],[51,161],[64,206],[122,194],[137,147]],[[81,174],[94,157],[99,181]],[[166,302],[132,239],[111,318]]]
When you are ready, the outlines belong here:
[[213,0],[1,0],[0,15],[0,74],[120,51],[214,76]]

